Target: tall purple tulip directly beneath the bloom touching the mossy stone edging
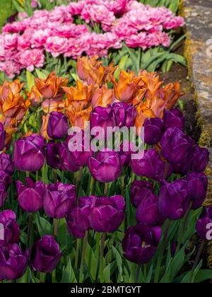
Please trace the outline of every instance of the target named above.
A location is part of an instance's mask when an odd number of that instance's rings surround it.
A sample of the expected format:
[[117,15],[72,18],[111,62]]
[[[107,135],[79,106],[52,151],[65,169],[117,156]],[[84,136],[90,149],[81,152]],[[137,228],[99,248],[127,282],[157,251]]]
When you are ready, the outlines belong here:
[[206,199],[208,179],[204,173],[190,173],[187,175],[189,197],[193,201],[192,209],[199,209]]

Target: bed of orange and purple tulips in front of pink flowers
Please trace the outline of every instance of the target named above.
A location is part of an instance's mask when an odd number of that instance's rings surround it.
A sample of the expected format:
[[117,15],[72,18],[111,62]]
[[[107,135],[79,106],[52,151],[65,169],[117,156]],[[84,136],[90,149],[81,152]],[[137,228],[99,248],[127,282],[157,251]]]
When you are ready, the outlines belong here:
[[[76,86],[52,72],[29,92],[18,80],[0,87],[0,281],[202,280],[188,240],[208,239],[209,153],[184,134],[179,83],[86,57],[77,69]],[[88,123],[135,126],[136,140],[144,127],[143,155],[122,138],[107,148],[105,135],[86,149]],[[76,151],[73,126],[83,129]]]

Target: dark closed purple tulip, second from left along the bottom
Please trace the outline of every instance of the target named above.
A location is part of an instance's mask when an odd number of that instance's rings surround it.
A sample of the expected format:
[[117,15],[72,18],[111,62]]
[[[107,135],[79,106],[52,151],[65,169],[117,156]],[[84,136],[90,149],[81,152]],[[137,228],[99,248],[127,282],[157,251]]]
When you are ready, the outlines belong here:
[[62,254],[58,243],[50,235],[45,235],[34,243],[30,255],[32,269],[37,272],[53,272]]

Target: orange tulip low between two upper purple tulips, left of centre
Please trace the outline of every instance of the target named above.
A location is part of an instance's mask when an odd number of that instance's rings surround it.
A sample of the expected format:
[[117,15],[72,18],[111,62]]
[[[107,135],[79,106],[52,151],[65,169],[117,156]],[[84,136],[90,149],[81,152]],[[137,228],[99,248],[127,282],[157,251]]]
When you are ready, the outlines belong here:
[[[69,110],[66,110],[66,115],[69,117],[71,126],[79,127],[81,129],[86,129],[86,123],[90,120],[90,112],[92,108],[89,106],[86,110],[75,110],[73,107],[69,107]],[[86,127],[85,127],[86,126]]]

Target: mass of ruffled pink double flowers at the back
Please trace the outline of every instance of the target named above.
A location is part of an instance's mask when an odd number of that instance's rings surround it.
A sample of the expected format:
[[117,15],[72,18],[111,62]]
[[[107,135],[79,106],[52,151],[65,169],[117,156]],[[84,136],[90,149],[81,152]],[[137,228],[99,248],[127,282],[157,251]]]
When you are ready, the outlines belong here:
[[[76,19],[80,24],[74,23]],[[21,13],[19,21],[4,25],[0,35],[0,70],[10,78],[21,69],[33,71],[45,64],[45,51],[76,59],[82,54],[107,56],[122,42],[143,50],[168,47],[167,30],[182,25],[183,19],[167,8],[134,0],[81,0],[52,11],[35,11],[29,18]]]

